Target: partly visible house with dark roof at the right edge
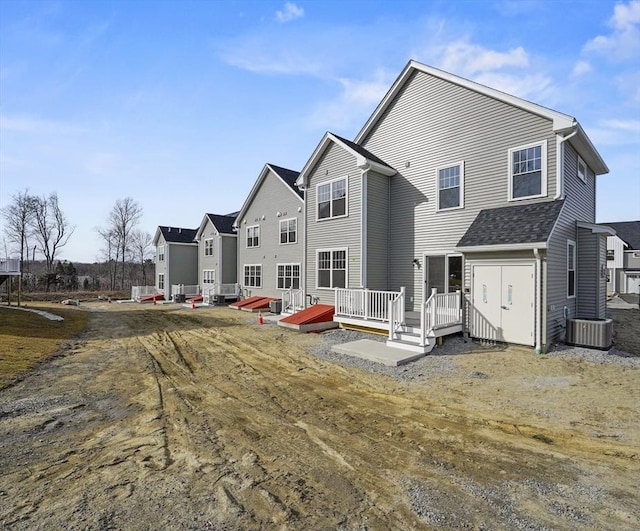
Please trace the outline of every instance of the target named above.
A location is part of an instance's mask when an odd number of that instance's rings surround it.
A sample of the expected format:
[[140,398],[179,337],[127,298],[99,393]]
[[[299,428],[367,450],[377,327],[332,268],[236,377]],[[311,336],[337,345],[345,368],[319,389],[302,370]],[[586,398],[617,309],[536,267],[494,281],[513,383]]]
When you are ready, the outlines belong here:
[[607,238],[607,292],[640,293],[640,221],[602,225],[616,231]]

